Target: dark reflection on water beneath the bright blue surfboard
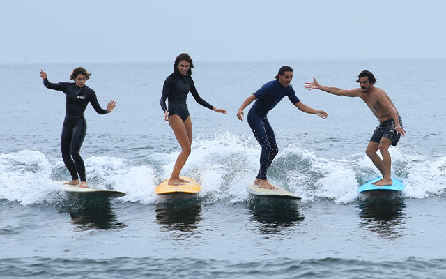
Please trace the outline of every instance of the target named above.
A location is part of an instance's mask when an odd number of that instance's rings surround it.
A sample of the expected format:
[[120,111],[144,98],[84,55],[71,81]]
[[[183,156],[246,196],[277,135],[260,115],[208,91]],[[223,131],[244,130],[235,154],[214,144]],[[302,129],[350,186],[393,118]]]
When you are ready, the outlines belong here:
[[367,199],[358,205],[361,227],[370,229],[385,239],[398,239],[406,224],[403,199]]

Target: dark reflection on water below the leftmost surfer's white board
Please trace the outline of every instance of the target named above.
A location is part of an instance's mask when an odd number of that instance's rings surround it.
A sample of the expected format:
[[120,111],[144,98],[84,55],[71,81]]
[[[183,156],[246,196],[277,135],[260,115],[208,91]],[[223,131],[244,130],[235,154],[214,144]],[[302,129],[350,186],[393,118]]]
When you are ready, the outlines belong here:
[[108,197],[83,197],[72,194],[64,206],[71,216],[71,223],[77,229],[121,229],[125,227],[118,221]]

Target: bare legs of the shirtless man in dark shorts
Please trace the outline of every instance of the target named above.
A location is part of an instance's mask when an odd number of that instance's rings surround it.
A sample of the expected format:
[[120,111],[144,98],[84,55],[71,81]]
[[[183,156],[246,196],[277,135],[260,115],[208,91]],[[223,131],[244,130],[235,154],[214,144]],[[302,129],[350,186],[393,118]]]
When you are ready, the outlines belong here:
[[[392,185],[393,181],[390,176],[390,172],[392,170],[392,158],[390,157],[389,147],[392,142],[387,139],[387,137],[381,138],[381,142],[369,142],[369,146],[365,153],[369,156],[370,160],[374,163],[375,167],[380,171],[383,175],[383,179],[380,179],[373,184],[375,186],[383,186],[383,185]],[[376,153],[377,151],[381,152],[383,156],[383,160]]]

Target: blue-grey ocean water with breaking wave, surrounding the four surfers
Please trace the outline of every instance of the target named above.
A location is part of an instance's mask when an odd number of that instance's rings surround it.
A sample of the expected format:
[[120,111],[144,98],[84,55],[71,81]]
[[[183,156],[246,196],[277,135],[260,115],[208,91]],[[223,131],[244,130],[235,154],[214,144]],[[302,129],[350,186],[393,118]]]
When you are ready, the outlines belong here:
[[[173,61],[0,65],[0,277],[443,278],[445,62],[194,62],[201,97],[228,115],[188,101],[194,140],[182,174],[201,183],[193,197],[154,193],[180,152],[159,104]],[[236,118],[285,64],[302,103],[329,114],[305,114],[284,98],[268,116],[279,145],[268,179],[299,202],[247,193],[260,147]],[[93,73],[87,85],[102,107],[118,104],[105,116],[87,107],[87,179],[125,197],[79,197],[53,183],[70,178],[59,147],[65,100],[45,89],[39,72],[68,81],[76,66]],[[377,121],[362,100],[303,88],[313,76],[355,88],[364,69],[408,133],[390,149],[402,193],[357,193],[378,176],[364,153]]]

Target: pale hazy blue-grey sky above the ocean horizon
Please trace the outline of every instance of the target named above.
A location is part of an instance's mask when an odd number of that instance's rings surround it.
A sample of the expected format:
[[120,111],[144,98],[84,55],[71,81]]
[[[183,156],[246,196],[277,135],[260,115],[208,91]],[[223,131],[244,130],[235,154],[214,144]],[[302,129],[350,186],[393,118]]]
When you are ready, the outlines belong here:
[[0,63],[445,59],[443,0],[15,0]]

